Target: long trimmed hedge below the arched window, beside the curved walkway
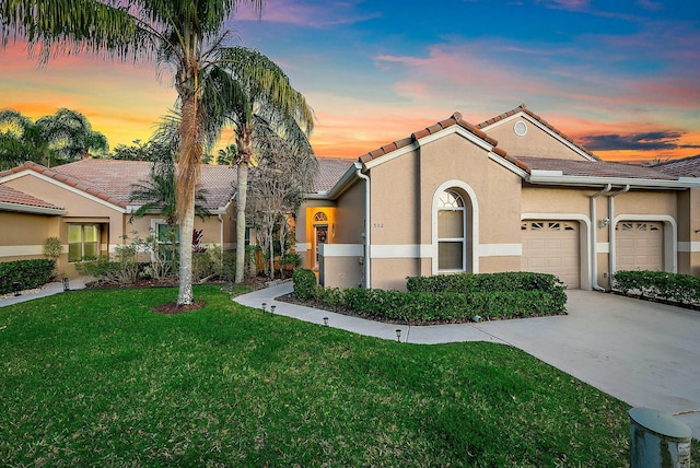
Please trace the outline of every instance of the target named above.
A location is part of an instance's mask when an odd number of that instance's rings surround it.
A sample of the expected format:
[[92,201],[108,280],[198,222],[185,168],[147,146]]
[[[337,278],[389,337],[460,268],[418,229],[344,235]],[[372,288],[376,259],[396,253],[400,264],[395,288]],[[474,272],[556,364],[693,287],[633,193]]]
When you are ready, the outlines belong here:
[[[307,272],[304,272],[307,271]],[[311,273],[311,274],[310,274]],[[468,321],[565,313],[565,286],[552,274],[491,273],[408,278],[408,292],[324,288],[311,270],[294,273],[294,296],[373,319]]]

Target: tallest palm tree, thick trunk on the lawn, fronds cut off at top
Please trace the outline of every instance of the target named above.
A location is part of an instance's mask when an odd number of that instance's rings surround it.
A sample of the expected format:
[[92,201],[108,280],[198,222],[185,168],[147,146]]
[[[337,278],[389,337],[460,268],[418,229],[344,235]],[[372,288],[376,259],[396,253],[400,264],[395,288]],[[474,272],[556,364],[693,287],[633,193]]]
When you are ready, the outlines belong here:
[[[107,1],[107,0],[105,0]],[[158,61],[168,68],[180,116],[176,162],[177,219],[180,232],[195,223],[199,163],[229,118],[236,97],[229,70],[225,22],[243,2],[256,12],[264,0],[0,0],[2,44],[26,38],[30,49],[47,61],[61,52],[91,54],[122,61]],[[265,81],[266,71],[249,72]],[[180,239],[178,305],[192,303],[191,236]]]

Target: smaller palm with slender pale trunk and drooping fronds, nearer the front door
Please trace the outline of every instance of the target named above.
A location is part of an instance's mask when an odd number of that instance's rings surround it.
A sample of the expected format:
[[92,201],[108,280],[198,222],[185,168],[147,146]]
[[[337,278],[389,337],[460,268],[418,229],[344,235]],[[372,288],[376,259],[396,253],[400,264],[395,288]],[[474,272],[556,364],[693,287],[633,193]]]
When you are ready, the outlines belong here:
[[[246,203],[248,166],[253,157],[255,116],[262,115],[276,121],[278,128],[304,128],[308,136],[314,128],[314,114],[304,96],[290,84],[289,78],[272,60],[245,47],[230,49],[228,58],[238,67],[233,71],[238,86],[233,102],[232,119],[238,154],[236,183],[236,253],[245,251]],[[257,73],[264,74],[259,80]],[[291,133],[291,132],[290,132]],[[243,282],[245,259],[236,255],[235,282]]]

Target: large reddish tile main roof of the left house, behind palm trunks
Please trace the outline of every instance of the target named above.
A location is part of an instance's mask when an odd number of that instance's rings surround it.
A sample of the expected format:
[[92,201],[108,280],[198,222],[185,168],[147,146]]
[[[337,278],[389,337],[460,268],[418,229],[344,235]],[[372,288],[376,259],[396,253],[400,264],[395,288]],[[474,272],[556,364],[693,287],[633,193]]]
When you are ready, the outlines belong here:
[[[0,172],[0,177],[31,169],[112,204],[126,208],[132,184],[148,180],[151,163],[148,161],[82,160],[56,167],[26,162],[22,166]],[[209,210],[225,207],[234,194],[236,171],[231,166],[202,164],[201,186],[207,190]]]

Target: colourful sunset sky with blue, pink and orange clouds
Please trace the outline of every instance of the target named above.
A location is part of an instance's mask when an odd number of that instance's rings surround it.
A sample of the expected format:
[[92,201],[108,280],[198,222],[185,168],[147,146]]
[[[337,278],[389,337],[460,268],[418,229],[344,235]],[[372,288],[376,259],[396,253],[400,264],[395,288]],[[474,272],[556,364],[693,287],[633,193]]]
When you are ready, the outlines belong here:
[[[319,156],[357,157],[435,121],[526,106],[604,160],[700,154],[700,1],[267,0],[232,44],[280,65],[316,113]],[[175,101],[154,66],[0,49],[0,108],[68,107],[112,148]],[[222,137],[222,145],[230,139]]]

